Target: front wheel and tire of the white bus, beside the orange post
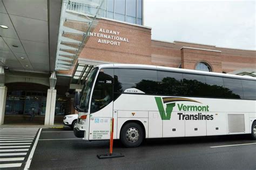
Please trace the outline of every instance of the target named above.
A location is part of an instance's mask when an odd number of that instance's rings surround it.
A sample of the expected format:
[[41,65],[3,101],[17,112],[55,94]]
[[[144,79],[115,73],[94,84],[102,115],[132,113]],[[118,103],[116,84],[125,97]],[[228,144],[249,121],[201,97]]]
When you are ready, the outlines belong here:
[[137,123],[125,124],[120,132],[120,140],[125,147],[138,147],[144,139],[142,126]]

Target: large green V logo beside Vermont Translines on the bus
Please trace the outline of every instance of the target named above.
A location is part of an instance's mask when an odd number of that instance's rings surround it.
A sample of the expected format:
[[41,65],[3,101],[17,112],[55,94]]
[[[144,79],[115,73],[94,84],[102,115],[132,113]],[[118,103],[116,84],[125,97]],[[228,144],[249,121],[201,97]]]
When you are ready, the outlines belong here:
[[164,109],[163,101],[160,97],[154,97],[156,99],[158,111],[160,113],[160,117],[162,120],[170,120],[172,115],[173,107],[176,105],[175,103],[166,104],[166,110]]

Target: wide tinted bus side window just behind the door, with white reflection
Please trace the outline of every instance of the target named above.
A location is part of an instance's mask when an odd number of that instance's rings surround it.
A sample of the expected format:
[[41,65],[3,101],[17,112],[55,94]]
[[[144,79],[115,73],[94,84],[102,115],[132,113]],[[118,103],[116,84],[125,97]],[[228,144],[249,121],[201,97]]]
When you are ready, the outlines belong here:
[[118,85],[114,86],[117,93],[157,93],[157,71],[138,69],[115,69],[115,79]]

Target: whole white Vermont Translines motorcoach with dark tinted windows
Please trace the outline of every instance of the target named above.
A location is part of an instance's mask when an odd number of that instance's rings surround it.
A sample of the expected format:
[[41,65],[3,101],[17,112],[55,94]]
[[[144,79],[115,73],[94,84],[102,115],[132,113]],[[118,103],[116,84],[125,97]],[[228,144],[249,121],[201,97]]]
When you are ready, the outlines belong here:
[[256,139],[256,78],[163,66],[95,67],[80,94],[76,137],[145,138],[251,134]]

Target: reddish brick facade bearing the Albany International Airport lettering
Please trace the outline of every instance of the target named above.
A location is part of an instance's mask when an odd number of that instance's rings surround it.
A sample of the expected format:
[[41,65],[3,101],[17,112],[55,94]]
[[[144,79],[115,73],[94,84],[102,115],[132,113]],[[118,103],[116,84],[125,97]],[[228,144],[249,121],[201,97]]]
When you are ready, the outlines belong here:
[[[80,23],[77,26],[76,22],[66,23],[66,26],[78,30],[83,27]],[[106,30],[118,31],[119,34],[106,33]],[[181,64],[184,69],[195,69],[197,63],[205,62],[211,66],[213,72],[232,72],[239,69],[256,68],[256,51],[151,40],[151,28],[145,26],[99,19],[91,32],[95,35],[86,39],[79,58],[100,60],[107,63],[149,64],[168,67],[179,67]],[[104,35],[123,37],[129,42],[122,42],[113,38],[107,39],[103,37]],[[68,35],[67,33],[66,36],[80,39],[79,35]],[[105,40],[105,43],[101,40]],[[118,42],[118,45],[106,43],[107,40]]]

